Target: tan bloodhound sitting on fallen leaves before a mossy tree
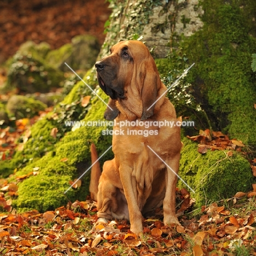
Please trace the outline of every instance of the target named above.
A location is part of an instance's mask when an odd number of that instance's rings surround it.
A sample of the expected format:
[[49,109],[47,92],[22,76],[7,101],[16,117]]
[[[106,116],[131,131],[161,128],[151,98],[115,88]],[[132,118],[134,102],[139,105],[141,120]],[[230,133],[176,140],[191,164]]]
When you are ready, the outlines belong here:
[[[176,112],[153,57],[142,42],[127,40],[95,66],[98,83],[110,96],[104,118],[115,119],[114,159],[104,163],[95,192],[98,221],[129,219],[131,231],[141,235],[142,214],[163,205],[164,223],[179,224],[175,190],[181,131],[167,125],[176,123]],[[159,127],[160,121],[165,125]]]

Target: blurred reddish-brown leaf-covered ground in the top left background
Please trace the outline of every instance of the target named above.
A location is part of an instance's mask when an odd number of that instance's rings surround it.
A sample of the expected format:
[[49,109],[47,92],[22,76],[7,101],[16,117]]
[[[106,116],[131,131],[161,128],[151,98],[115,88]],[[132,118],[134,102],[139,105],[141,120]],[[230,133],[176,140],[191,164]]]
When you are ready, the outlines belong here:
[[110,12],[105,0],[1,0],[0,63],[27,40],[57,49],[74,36],[90,34],[102,44]]

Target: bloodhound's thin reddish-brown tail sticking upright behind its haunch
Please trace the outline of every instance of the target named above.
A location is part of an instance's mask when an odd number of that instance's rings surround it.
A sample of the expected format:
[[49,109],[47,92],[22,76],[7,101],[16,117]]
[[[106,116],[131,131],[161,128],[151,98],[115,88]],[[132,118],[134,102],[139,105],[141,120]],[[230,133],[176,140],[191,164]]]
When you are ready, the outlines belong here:
[[[98,153],[95,147],[95,144],[91,144],[91,164],[93,165],[98,159]],[[98,181],[101,176],[101,167],[100,162],[96,162],[95,165],[91,167],[91,181],[90,181],[90,196],[91,199],[97,201],[97,194],[98,194]]]

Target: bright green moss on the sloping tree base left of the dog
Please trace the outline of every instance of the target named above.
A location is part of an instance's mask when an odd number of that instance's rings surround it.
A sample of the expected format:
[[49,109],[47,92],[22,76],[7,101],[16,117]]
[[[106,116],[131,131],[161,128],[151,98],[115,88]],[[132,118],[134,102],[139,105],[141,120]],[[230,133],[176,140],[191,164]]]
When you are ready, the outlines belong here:
[[[80,86],[83,87],[83,84]],[[97,92],[107,101],[107,96],[102,91]],[[84,121],[103,120],[106,105],[95,95],[91,96],[90,109]],[[69,188],[69,181],[79,178],[90,167],[90,144],[96,144],[99,154],[104,153],[111,145],[112,137],[102,135],[102,129],[106,129],[102,126],[81,126],[67,132],[64,137],[60,132],[54,138],[50,131],[54,127],[61,131],[65,121],[57,123],[52,116],[53,113],[49,114],[32,127],[31,138],[25,144],[23,152],[16,153],[14,157],[15,159],[25,155],[27,160],[27,165],[16,172],[17,176],[30,173],[35,167],[39,170],[37,176],[30,176],[19,184],[18,199],[13,201],[14,207],[19,211],[32,208],[39,211],[52,210],[54,207],[65,205],[68,200],[85,200],[89,193],[89,173],[83,176],[82,187],[63,193]],[[109,150],[101,159],[101,164],[112,156],[112,150]]]

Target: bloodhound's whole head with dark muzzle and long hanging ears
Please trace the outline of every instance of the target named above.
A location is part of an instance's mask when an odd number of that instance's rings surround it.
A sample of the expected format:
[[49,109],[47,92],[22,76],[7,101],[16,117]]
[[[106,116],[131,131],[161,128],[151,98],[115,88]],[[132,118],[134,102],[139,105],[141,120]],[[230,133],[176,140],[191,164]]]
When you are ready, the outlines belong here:
[[[112,46],[109,56],[96,62],[95,67],[98,84],[110,96],[111,107],[118,101],[136,118],[144,120],[153,115],[152,104],[156,101],[161,80],[146,45],[136,40],[119,42]],[[117,117],[119,110],[111,111],[106,110],[106,119]]]

